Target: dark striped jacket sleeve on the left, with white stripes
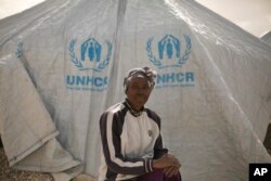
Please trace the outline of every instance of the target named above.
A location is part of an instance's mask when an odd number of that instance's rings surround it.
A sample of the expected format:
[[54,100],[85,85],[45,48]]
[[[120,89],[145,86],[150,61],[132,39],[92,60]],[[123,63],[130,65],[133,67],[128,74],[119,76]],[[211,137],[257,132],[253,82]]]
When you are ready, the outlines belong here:
[[106,112],[100,119],[103,154],[108,169],[121,174],[143,174],[151,172],[152,159],[125,158],[121,154],[120,133],[124,120],[117,113]]

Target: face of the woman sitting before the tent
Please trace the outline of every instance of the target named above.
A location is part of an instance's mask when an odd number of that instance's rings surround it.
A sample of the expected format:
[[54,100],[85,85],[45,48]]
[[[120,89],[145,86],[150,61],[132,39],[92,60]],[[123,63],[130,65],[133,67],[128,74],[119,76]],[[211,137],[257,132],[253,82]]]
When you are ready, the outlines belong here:
[[146,78],[136,77],[132,78],[127,87],[126,95],[134,111],[140,111],[147,102],[152,92]]

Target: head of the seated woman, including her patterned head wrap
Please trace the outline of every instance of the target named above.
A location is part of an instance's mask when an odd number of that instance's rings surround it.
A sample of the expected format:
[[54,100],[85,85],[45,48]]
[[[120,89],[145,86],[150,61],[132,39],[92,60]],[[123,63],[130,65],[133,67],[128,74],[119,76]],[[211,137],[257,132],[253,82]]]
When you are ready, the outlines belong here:
[[129,70],[124,80],[125,92],[132,108],[140,111],[155,85],[156,73],[149,67]]

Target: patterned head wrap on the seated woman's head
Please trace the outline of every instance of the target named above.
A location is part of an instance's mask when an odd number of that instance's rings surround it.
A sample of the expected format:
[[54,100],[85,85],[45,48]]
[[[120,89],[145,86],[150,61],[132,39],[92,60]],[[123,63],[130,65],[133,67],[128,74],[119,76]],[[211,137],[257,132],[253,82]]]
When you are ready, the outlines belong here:
[[156,75],[157,73],[150,67],[132,68],[128,72],[128,75],[124,79],[125,90],[127,90],[128,82],[136,77],[146,78],[150,88],[153,88],[155,85]]

